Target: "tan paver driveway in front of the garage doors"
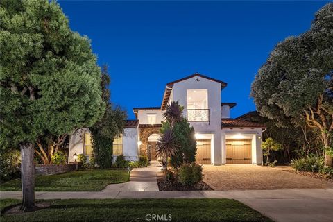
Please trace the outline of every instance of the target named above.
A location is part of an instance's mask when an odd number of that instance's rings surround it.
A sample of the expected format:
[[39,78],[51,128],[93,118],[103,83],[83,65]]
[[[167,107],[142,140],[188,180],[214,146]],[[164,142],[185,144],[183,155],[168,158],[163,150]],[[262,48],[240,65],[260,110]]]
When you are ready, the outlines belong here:
[[251,164],[203,166],[203,180],[214,190],[333,188],[333,182],[281,169]]

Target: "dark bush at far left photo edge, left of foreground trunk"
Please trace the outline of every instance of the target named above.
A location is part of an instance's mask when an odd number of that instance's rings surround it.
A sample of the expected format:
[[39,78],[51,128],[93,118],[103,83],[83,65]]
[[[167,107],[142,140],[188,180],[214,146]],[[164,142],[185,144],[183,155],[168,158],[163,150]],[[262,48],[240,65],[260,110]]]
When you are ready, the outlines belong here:
[[5,182],[19,178],[21,174],[21,155],[17,150],[10,150],[0,154],[0,180]]

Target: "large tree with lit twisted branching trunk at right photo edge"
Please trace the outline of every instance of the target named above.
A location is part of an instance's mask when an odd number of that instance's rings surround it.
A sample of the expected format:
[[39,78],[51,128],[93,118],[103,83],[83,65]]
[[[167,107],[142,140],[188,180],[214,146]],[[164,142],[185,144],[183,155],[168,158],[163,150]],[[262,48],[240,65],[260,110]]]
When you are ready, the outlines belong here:
[[333,3],[316,12],[306,33],[288,37],[271,52],[252,84],[258,111],[280,124],[305,121],[318,129],[325,164],[332,166]]

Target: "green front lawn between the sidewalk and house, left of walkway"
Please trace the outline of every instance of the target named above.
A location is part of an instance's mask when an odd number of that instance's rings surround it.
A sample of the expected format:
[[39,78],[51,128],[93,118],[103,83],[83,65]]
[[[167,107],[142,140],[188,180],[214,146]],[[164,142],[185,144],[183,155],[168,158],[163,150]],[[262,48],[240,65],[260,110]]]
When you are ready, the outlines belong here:
[[[50,176],[36,176],[35,191],[101,191],[111,183],[128,182],[125,170],[87,169]],[[21,179],[1,184],[1,191],[20,191]]]

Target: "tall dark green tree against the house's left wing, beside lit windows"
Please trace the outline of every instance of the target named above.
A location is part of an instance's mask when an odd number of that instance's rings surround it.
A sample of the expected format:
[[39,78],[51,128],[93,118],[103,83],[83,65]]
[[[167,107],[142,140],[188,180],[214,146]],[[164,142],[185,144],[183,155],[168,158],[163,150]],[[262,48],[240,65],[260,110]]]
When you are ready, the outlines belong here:
[[123,133],[127,114],[121,108],[114,108],[110,102],[110,76],[108,67],[102,67],[102,98],[107,104],[103,117],[90,128],[94,158],[99,167],[112,167],[112,146],[115,137]]

